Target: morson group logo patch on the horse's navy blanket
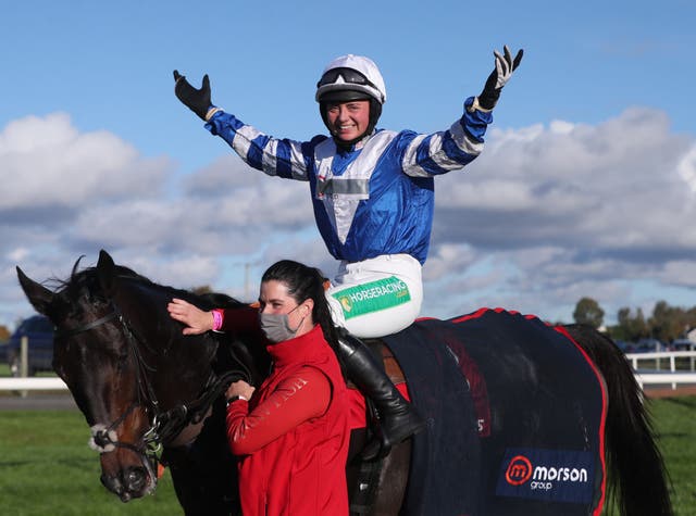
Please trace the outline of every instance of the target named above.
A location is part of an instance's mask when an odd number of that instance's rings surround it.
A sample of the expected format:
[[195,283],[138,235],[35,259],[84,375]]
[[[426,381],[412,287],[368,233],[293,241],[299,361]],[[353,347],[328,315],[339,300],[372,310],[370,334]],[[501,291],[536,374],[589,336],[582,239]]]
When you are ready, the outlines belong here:
[[593,500],[593,489],[592,452],[508,449],[496,494],[588,503]]

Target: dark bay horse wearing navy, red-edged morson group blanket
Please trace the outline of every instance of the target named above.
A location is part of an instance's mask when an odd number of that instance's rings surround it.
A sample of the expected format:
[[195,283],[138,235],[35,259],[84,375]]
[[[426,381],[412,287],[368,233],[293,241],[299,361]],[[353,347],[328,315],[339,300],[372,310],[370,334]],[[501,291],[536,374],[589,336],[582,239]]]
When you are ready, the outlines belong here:
[[[165,311],[173,294],[204,310],[236,302],[159,286],[104,251],[96,267],[77,265],[55,292],[17,274],[57,326],[55,370],[102,429],[92,436],[102,482],[124,501],[142,496],[157,483],[152,461],[163,460],[186,514],[237,514],[219,386],[231,368],[260,381],[268,356],[245,336],[184,337]],[[671,514],[641,391],[595,330],[481,310],[383,341],[427,429],[384,460],[364,514],[599,515],[607,481],[622,514]]]

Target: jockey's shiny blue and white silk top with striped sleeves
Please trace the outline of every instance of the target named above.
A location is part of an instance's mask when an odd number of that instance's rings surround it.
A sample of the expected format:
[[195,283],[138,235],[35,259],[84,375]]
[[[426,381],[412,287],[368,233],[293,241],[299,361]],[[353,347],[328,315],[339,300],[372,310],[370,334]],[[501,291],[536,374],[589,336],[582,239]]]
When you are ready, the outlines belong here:
[[314,216],[331,254],[358,262],[410,254],[425,262],[433,224],[433,177],[462,168],[483,150],[489,112],[464,103],[462,117],[444,131],[420,135],[376,130],[351,150],[327,136],[277,139],[219,111],[206,127],[251,167],[309,181]]

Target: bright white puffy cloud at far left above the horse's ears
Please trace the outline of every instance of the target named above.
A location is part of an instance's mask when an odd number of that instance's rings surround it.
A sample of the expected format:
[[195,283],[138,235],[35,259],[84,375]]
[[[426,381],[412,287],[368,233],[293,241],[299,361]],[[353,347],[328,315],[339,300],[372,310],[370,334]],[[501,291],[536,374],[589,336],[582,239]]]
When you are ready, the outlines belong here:
[[159,192],[169,163],[144,159],[107,131],[80,134],[64,113],[14,121],[0,133],[0,211],[76,209]]

